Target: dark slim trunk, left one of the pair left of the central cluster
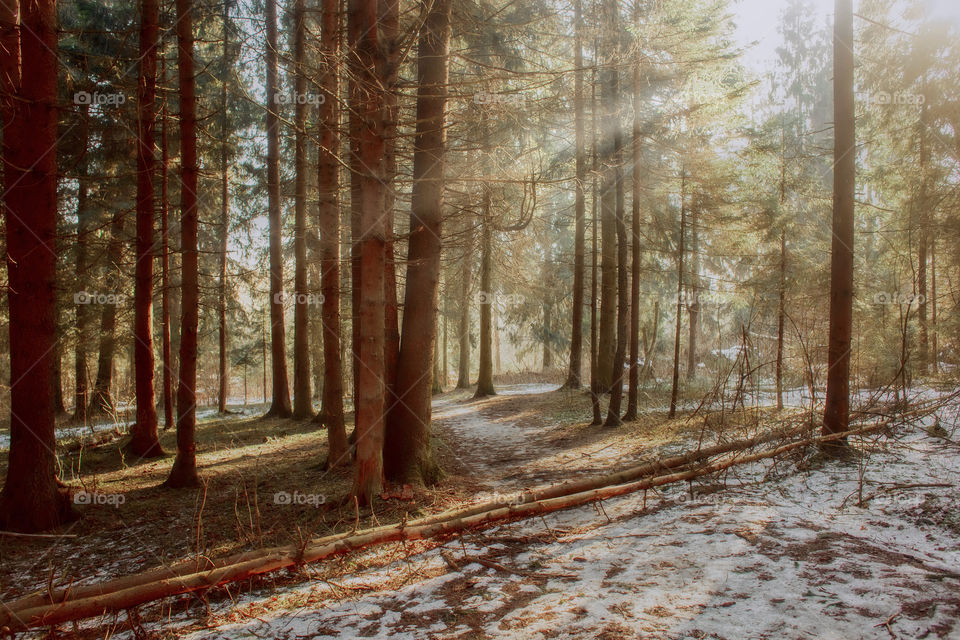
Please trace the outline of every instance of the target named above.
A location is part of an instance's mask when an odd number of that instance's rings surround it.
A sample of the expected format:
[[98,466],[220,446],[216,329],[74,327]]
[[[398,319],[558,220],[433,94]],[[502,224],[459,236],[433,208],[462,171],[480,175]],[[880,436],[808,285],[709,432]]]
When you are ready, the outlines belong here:
[[268,416],[289,418],[286,330],[283,320],[283,221],[280,219],[280,91],[277,76],[277,0],[266,1],[267,209],[270,218],[270,361],[273,400]]

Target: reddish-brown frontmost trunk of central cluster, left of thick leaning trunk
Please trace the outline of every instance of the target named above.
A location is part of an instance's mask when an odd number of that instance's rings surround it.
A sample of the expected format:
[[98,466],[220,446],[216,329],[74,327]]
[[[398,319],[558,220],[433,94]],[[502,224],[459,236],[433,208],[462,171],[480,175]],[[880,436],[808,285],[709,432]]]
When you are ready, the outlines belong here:
[[349,0],[350,64],[355,78],[355,103],[359,175],[359,235],[353,241],[359,256],[360,296],[355,422],[357,464],[352,494],[358,504],[373,502],[383,486],[385,384],[386,225],[383,211],[382,78],[378,74],[377,0]]

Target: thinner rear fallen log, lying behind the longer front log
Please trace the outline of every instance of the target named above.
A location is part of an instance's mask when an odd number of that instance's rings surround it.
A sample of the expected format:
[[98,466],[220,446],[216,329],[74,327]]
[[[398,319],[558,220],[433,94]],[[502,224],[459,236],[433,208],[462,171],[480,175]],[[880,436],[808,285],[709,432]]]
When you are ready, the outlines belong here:
[[[792,429],[780,429],[776,431],[770,431],[763,434],[758,434],[750,438],[741,438],[737,440],[731,440],[722,444],[714,445],[712,447],[707,447],[699,449],[697,451],[692,451],[690,453],[681,454],[677,456],[672,456],[663,460],[653,460],[650,462],[645,462],[633,467],[623,469],[614,473],[606,474],[603,476],[591,476],[584,478],[582,480],[568,481],[556,485],[550,485],[547,487],[542,487],[540,489],[531,489],[520,492],[516,499],[512,501],[512,504],[526,504],[528,502],[535,502],[538,500],[546,500],[549,498],[557,498],[565,495],[570,495],[573,493],[579,493],[581,491],[588,490],[593,487],[613,485],[613,484],[623,484],[625,482],[630,482],[638,478],[651,476],[656,473],[663,471],[669,471],[673,469],[682,468],[692,464],[698,464],[709,458],[722,455],[724,453],[729,453],[731,451],[740,451],[745,449],[750,449],[757,445],[767,444],[777,440],[785,440],[792,438],[798,435],[802,435],[810,431],[809,426],[796,427]],[[460,509],[448,509],[446,511],[436,513],[429,516],[424,516],[422,518],[417,518],[415,520],[409,520],[404,526],[413,527],[421,526],[427,524],[433,524],[436,522],[444,522],[447,520],[455,518],[465,518],[471,515],[478,513],[485,513],[491,511],[497,507],[502,507],[503,502],[501,501],[491,501],[483,502],[471,507],[460,508]],[[366,533],[378,533],[383,531],[390,531],[396,529],[397,524],[383,525],[380,527],[367,529]],[[335,542],[337,540],[342,540],[344,538],[355,535],[355,531],[347,531],[337,534],[332,534],[329,536],[324,536],[322,538],[317,538],[311,541],[311,544],[327,544]],[[79,600],[85,598],[93,598],[97,596],[106,595],[114,591],[122,591],[125,589],[130,589],[142,584],[148,584],[152,582],[157,582],[161,580],[169,580],[176,578],[177,576],[188,575],[193,573],[199,573],[203,570],[212,570],[218,566],[226,566],[232,564],[240,564],[250,560],[254,557],[260,557],[264,553],[270,552],[279,552],[289,550],[289,547],[274,547],[270,549],[259,549],[254,551],[243,551],[235,553],[230,556],[225,556],[218,559],[216,562],[210,560],[205,556],[199,558],[184,560],[173,565],[156,567],[148,571],[141,573],[133,574],[130,576],[124,576],[121,578],[115,578],[113,580],[103,582],[100,584],[85,585],[85,586],[75,586],[67,585],[64,587],[48,588],[43,591],[38,591],[30,595],[24,596],[23,598],[16,600],[10,603],[0,603],[0,628],[8,624],[9,618],[12,612],[21,611],[25,609],[32,609],[36,607],[41,607],[48,604],[56,604],[64,602],[68,599],[70,600]]]

